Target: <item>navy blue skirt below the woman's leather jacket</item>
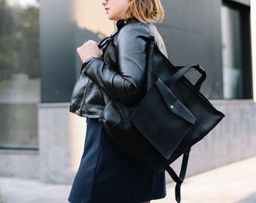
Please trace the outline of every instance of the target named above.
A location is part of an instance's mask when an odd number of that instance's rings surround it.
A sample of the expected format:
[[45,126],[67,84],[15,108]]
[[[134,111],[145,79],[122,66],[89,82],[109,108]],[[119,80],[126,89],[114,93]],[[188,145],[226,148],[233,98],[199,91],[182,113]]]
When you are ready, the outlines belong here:
[[134,165],[102,129],[87,120],[84,154],[72,185],[72,203],[140,203],[166,196],[164,171],[151,174]]

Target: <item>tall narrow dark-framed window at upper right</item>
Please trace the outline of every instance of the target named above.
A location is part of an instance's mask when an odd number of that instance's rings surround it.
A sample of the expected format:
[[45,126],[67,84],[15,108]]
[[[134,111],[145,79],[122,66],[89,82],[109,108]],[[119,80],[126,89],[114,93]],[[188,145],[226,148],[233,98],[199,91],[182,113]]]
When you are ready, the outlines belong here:
[[[225,3],[229,2],[229,3]],[[252,98],[249,8],[224,1],[221,34],[224,98]]]

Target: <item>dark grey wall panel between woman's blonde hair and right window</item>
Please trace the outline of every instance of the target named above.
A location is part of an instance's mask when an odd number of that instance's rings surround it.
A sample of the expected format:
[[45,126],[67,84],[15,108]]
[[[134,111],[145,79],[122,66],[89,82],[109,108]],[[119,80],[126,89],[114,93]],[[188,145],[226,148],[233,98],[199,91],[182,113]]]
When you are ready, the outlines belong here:
[[166,13],[158,25],[174,65],[199,63],[207,73],[207,98],[222,98],[221,1],[162,1]]

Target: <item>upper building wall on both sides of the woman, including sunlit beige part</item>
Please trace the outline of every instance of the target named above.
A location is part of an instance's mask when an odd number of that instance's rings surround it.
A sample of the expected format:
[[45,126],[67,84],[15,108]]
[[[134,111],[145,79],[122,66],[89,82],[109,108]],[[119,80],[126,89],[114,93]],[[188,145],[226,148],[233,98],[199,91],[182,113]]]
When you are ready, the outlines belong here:
[[[166,18],[157,27],[170,61],[200,63],[209,75],[202,91],[208,98],[222,98],[221,1],[165,0],[163,6]],[[90,7],[81,0],[41,2],[41,102],[69,102],[81,66],[75,48],[114,29],[99,2]]]

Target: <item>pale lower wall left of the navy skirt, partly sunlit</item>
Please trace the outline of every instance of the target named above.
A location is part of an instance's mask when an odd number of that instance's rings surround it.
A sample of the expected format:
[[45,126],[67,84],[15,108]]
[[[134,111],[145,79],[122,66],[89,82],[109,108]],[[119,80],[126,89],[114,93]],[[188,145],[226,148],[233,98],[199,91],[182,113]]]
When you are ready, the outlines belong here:
[[38,105],[39,180],[72,183],[84,148],[86,119],[66,103]]

